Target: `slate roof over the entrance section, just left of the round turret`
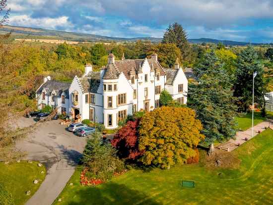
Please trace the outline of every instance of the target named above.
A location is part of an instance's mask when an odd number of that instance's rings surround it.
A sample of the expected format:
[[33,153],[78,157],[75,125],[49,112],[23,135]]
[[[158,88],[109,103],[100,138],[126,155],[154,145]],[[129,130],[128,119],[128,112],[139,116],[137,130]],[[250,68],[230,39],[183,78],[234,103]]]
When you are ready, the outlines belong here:
[[78,79],[84,93],[97,93],[100,85],[100,72],[90,71],[86,77]]

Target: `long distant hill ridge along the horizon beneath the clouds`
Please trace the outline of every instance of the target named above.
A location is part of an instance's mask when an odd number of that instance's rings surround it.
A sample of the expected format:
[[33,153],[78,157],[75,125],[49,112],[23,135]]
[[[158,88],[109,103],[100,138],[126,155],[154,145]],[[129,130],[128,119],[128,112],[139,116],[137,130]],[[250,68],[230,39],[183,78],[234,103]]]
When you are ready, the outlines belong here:
[[[13,37],[17,38],[31,38],[31,39],[59,39],[67,41],[79,41],[79,42],[98,42],[98,41],[116,41],[116,42],[135,42],[136,40],[149,40],[153,43],[160,42],[162,38],[153,37],[136,37],[136,38],[119,38],[101,36],[95,34],[76,33],[59,30],[49,30],[43,28],[31,28],[21,26],[9,26],[5,25],[0,27],[0,33],[12,32]],[[238,42],[229,40],[216,40],[211,38],[197,38],[188,39],[190,43],[223,43],[224,45],[240,45],[245,46],[249,42]],[[259,43],[252,43],[252,45],[259,45]]]

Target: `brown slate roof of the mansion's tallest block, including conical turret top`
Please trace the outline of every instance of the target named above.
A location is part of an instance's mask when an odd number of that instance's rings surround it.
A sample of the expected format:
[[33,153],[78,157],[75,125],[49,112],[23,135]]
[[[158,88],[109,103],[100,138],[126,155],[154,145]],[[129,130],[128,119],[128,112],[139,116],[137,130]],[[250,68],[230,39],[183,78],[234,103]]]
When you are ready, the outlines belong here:
[[[141,67],[144,63],[145,59],[123,59],[116,60],[114,64],[108,64],[105,69],[105,73],[103,79],[118,79],[121,72],[126,76],[128,80],[131,79],[130,72],[133,71],[137,73],[141,73]],[[160,72],[160,75],[165,75],[164,69],[161,65],[155,61],[154,59],[147,59],[149,66],[153,67],[156,72]]]

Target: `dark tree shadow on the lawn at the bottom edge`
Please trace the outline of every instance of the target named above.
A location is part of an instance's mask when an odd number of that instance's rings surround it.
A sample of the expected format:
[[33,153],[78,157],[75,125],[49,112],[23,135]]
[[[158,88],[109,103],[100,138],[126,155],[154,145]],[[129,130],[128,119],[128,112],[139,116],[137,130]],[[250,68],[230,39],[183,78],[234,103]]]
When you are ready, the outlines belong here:
[[68,205],[162,205],[139,191],[126,185],[106,183],[99,187],[80,189],[75,193],[79,201]]

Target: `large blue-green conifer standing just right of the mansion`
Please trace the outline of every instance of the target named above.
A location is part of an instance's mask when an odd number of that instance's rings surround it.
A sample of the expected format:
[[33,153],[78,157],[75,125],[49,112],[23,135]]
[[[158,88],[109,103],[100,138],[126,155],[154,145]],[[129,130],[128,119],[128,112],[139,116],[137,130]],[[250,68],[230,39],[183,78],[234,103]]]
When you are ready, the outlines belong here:
[[232,79],[219,63],[214,51],[205,53],[195,68],[198,83],[190,84],[188,105],[196,110],[203,124],[205,142],[223,141],[234,136],[235,99]]

